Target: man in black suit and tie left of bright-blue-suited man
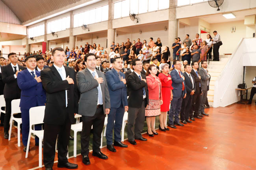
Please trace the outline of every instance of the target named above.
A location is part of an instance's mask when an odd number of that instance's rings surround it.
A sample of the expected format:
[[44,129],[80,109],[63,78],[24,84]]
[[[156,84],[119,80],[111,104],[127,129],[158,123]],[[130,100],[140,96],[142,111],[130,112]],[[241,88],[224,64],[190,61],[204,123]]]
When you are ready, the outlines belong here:
[[11,101],[13,99],[20,99],[20,88],[17,84],[17,75],[25,67],[17,64],[18,57],[16,53],[8,54],[9,65],[2,67],[2,80],[4,85],[4,99],[6,101],[6,114],[4,115],[4,138],[9,138],[9,122],[11,118]]

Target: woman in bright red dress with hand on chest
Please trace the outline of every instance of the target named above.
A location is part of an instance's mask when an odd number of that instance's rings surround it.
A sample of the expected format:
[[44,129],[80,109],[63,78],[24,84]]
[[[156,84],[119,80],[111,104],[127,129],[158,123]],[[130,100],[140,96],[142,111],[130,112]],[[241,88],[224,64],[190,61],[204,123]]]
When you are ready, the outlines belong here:
[[161,105],[161,115],[159,116],[159,129],[161,131],[169,130],[166,126],[167,112],[169,111],[170,101],[173,100],[173,87],[171,75],[168,74],[169,64],[161,65],[161,71],[158,75],[162,84],[162,95],[163,95],[163,104]]

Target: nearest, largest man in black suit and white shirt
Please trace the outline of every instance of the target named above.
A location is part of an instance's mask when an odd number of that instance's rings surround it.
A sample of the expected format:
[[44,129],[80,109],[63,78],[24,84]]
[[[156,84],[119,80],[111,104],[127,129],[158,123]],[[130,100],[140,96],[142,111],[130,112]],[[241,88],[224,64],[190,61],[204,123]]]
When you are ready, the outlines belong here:
[[58,167],[74,169],[78,165],[67,160],[71,124],[78,113],[78,90],[74,69],[63,66],[65,52],[57,47],[52,50],[54,64],[41,71],[41,80],[46,91],[45,131],[43,161],[46,170],[52,170],[55,144],[58,136]]

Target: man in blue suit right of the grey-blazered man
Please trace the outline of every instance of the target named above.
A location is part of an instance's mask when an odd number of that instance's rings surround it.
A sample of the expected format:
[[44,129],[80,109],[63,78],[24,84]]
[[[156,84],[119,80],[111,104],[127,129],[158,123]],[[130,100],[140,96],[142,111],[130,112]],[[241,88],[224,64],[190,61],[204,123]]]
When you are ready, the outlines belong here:
[[[128,111],[126,79],[122,70],[122,58],[113,58],[113,69],[106,72],[108,91],[110,96],[111,109],[108,114],[108,124],[106,129],[107,148],[116,152],[114,146],[127,148],[126,144],[121,143],[121,128],[124,111]],[[113,128],[114,128],[114,146],[113,146]]]

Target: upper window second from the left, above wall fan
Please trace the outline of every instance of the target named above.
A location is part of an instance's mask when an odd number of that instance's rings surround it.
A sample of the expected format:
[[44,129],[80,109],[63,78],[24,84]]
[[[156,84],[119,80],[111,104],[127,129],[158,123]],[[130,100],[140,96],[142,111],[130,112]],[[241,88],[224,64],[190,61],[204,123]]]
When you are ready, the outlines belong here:
[[70,16],[54,20],[47,23],[47,34],[51,32],[58,32],[70,28]]

